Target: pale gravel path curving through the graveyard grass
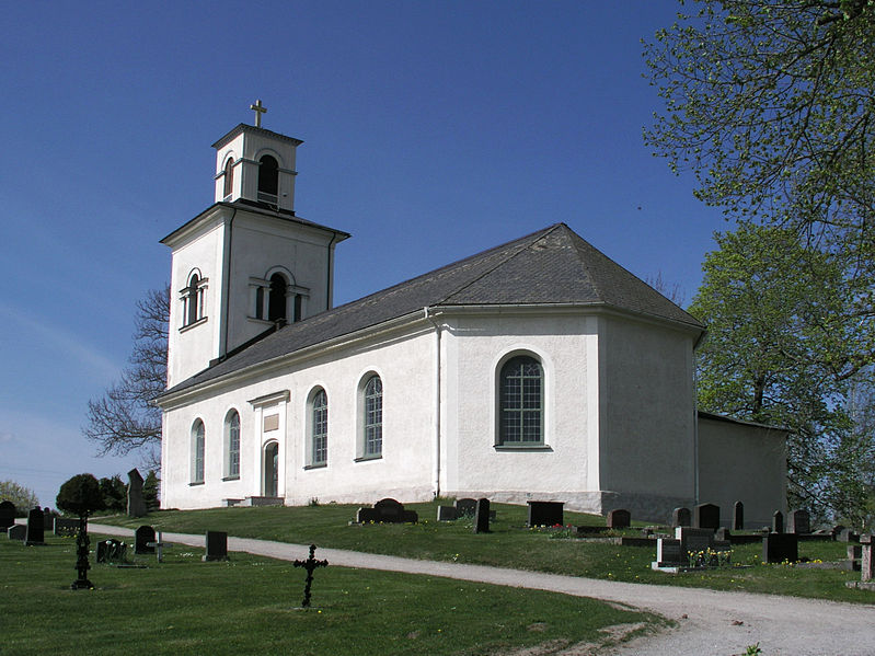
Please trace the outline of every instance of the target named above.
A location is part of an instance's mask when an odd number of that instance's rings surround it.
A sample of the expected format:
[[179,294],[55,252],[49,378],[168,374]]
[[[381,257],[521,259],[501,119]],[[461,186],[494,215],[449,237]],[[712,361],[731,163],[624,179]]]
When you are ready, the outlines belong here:
[[[89,528],[96,533],[127,538],[134,534],[130,529],[106,525]],[[162,538],[176,544],[204,546],[204,536],[164,532]],[[302,544],[231,537],[228,549],[281,560],[304,559],[308,553],[308,546]],[[320,548],[316,557],[344,567],[446,576],[592,597],[651,610],[678,622],[677,629],[610,652],[617,656],[734,656],[757,643],[763,656],[875,656],[875,605],[619,583],[339,549]]]

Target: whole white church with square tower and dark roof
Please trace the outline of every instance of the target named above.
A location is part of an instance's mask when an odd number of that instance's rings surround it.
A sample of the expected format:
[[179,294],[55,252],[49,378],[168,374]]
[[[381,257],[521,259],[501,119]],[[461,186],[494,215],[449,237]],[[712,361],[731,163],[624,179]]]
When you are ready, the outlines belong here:
[[334,307],[350,235],[299,217],[299,139],[214,143],[172,251],[164,508],[564,502],[785,510],[786,434],[695,407],[705,326],[565,223]]

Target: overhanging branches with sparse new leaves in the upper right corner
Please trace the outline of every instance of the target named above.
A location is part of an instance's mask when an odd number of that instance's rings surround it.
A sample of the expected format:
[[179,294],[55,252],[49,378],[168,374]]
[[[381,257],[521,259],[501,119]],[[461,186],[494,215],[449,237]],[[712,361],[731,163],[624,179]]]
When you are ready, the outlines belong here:
[[689,4],[645,44],[666,103],[648,146],[710,205],[853,251],[871,275],[875,2]]

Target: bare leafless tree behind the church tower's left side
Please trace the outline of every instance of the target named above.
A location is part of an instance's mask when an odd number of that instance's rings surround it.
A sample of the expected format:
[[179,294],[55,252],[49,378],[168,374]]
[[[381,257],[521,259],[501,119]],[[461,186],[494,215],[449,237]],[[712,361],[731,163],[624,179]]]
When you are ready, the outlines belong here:
[[147,292],[137,302],[134,349],[118,381],[88,404],[87,438],[100,454],[138,450],[150,469],[160,467],[161,411],[151,404],[168,380],[170,288]]

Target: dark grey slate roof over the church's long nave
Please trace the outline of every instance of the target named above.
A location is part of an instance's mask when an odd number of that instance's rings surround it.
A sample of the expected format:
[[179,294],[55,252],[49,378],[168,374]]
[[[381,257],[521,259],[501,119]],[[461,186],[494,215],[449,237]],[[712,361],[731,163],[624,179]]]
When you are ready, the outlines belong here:
[[565,223],[556,223],[286,325],[176,384],[162,396],[393,319],[422,313],[425,307],[506,304],[607,306],[704,330],[692,315],[584,241]]

